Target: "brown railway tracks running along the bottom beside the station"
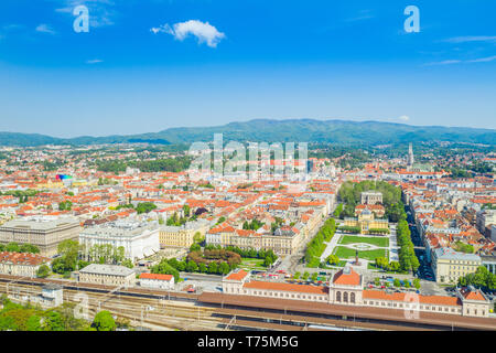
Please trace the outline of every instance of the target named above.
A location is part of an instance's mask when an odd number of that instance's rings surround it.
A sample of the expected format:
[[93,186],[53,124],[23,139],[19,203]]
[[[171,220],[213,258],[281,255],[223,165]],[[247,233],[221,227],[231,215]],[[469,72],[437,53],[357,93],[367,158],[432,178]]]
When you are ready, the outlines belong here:
[[[380,323],[351,321],[337,318],[320,318],[265,309],[224,308],[220,303],[202,302],[198,295],[114,287],[94,284],[40,278],[22,278],[0,275],[0,291],[9,293],[24,290],[39,295],[46,284],[64,287],[64,299],[80,302],[80,295],[87,296],[88,311],[109,310],[118,317],[129,319],[134,325],[148,325],[155,330],[425,330],[402,325],[400,322]],[[151,310],[148,310],[152,308]],[[236,324],[229,324],[233,322]]]

